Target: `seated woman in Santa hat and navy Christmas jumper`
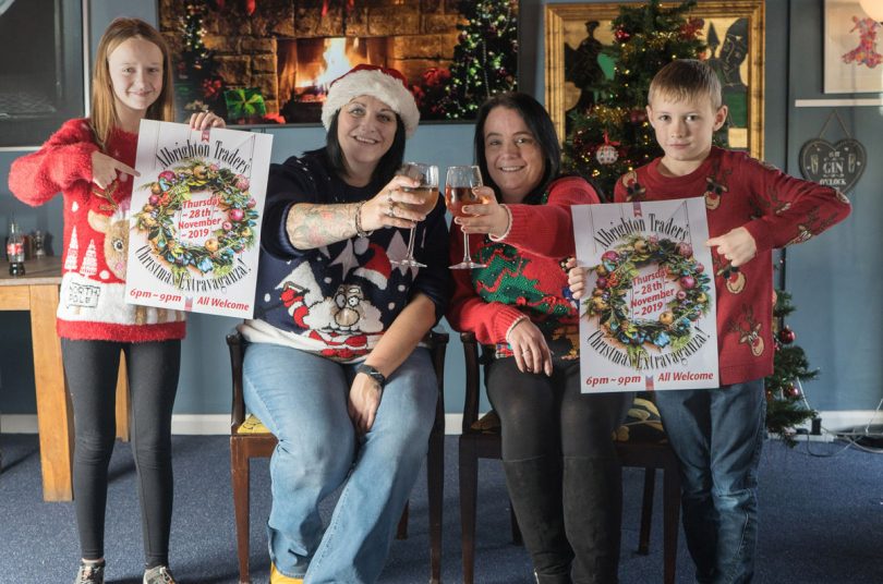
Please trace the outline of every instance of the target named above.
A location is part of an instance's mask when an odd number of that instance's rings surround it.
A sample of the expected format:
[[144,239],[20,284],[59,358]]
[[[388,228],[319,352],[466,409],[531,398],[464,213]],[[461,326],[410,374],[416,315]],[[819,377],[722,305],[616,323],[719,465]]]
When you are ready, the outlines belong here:
[[[437,385],[418,346],[451,283],[443,204],[396,175],[420,120],[398,71],[359,65],[322,109],[324,148],[270,168],[245,402],[279,439],[271,583],[375,582],[425,457]],[[416,226],[421,269],[397,267]],[[342,486],[327,528],[319,501]]]

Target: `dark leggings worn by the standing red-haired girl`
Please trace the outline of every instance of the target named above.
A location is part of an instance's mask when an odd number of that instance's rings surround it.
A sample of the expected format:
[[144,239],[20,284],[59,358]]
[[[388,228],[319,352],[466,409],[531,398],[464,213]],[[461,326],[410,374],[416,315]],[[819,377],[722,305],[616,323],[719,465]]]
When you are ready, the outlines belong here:
[[132,450],[147,568],[168,565],[172,512],[171,414],[181,341],[121,343],[62,339],[76,436],[74,507],[83,558],[105,553],[108,464],[117,435],[116,388],[125,352],[132,405]]

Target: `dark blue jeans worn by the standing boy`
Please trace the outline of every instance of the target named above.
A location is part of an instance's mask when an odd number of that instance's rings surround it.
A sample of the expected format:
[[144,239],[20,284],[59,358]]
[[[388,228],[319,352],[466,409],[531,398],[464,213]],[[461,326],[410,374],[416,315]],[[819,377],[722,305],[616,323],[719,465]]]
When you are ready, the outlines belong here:
[[680,460],[684,531],[697,581],[751,582],[766,417],[763,379],[655,396]]

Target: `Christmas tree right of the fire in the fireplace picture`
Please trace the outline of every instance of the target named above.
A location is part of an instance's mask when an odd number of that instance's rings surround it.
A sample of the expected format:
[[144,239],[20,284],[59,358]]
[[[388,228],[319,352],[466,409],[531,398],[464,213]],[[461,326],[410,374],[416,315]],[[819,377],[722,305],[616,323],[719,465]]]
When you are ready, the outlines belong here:
[[439,110],[449,119],[472,119],[494,94],[518,88],[518,0],[462,0],[450,81]]

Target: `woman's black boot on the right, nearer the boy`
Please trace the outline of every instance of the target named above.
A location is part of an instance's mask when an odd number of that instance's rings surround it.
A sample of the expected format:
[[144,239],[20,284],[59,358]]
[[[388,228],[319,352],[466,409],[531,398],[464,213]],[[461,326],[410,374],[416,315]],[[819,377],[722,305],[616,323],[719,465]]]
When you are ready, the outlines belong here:
[[564,459],[564,513],[574,584],[619,582],[622,467],[616,459]]

